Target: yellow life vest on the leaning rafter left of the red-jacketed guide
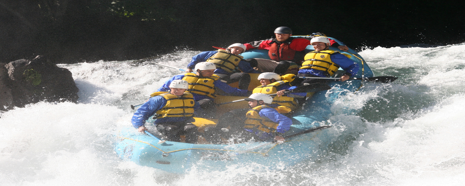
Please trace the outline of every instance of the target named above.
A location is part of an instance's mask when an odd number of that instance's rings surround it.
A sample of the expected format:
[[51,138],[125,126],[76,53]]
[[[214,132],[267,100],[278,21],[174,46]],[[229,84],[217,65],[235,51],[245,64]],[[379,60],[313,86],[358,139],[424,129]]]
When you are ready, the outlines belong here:
[[242,58],[244,57],[229,53],[223,49],[218,49],[218,53],[215,53],[215,55],[208,58],[206,62],[212,62],[217,68],[221,68],[228,73],[232,73],[234,68],[239,65],[239,61],[242,60]]

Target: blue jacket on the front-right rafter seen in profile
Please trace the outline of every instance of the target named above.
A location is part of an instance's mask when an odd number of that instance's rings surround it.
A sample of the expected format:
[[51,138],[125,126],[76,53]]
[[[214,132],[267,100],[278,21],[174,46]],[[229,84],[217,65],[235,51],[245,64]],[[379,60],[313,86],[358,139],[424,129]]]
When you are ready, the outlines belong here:
[[[274,108],[262,108],[259,112],[260,117],[269,118],[275,123],[278,123],[276,127],[276,131],[278,133],[286,133],[291,128],[292,120],[286,117],[283,114],[278,113]],[[253,133],[253,129],[245,129],[248,132]],[[255,132],[255,134],[259,135],[262,139],[271,138],[274,135],[272,133],[259,133],[259,131]]]

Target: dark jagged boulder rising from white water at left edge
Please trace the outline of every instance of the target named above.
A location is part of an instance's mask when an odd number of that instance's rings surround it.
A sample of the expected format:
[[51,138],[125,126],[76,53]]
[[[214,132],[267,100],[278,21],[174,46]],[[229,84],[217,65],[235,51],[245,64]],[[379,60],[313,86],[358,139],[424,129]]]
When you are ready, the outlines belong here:
[[72,73],[44,56],[37,56],[33,60],[16,60],[4,67],[2,65],[0,69],[0,110],[39,101],[75,103],[78,91]]

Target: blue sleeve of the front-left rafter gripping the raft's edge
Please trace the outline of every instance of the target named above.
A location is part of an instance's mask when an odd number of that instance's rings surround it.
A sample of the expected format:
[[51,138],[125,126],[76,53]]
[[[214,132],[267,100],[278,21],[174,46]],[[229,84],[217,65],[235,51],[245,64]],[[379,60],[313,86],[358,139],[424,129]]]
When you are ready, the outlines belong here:
[[134,128],[144,126],[145,121],[166,105],[166,99],[161,96],[154,96],[140,106],[134,113],[131,123]]

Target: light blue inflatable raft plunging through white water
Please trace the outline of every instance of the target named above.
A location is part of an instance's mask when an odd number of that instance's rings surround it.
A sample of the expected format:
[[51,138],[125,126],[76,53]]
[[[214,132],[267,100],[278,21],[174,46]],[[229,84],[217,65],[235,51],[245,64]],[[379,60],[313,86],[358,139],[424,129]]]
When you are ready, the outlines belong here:
[[[305,38],[306,36],[299,37]],[[336,41],[344,45],[339,40]],[[349,49],[349,53],[334,47],[330,47],[330,49],[350,55],[350,59],[359,64],[360,70],[355,76],[356,78],[373,77],[370,67],[352,49]],[[312,50],[312,46],[307,46],[306,52]],[[266,50],[251,50],[241,55],[245,59],[269,59],[267,53]],[[332,86],[332,89],[314,93],[311,98],[306,100],[304,109],[294,114],[295,120],[293,120],[292,128],[285,135],[328,125],[327,121],[332,115],[330,110],[332,103],[341,95],[357,91],[362,86],[361,83],[360,80],[330,81],[328,85]],[[116,143],[115,151],[121,159],[170,173],[185,173],[193,168],[221,171],[251,164],[267,166],[270,169],[282,169],[304,160],[315,159],[320,151],[326,150],[328,144],[333,140],[332,135],[330,135],[332,130],[332,128],[327,128],[297,135],[287,138],[283,144],[255,142],[208,145],[172,141],[159,143],[153,137],[139,133],[132,126],[128,126],[118,133],[120,140]]]

